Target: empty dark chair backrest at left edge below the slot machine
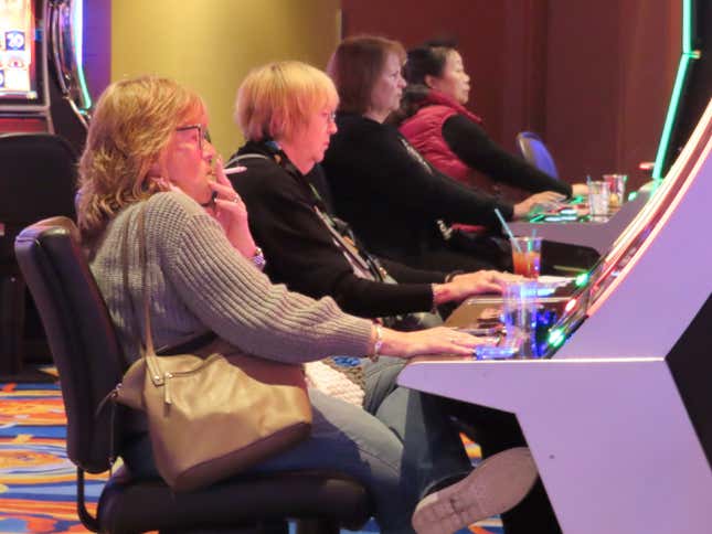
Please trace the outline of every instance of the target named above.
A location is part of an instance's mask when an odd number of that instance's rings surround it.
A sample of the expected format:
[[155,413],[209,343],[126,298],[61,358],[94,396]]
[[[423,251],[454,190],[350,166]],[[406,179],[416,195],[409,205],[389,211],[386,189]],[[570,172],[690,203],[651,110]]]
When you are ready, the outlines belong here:
[[0,259],[12,261],[14,236],[54,215],[74,218],[74,149],[44,132],[0,135]]

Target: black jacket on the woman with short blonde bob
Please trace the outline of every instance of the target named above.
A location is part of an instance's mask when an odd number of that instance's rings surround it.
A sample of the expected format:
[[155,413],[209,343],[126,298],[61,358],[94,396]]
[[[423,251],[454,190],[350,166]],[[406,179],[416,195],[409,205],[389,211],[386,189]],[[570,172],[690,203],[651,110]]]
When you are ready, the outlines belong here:
[[359,278],[343,256],[323,221],[314,210],[323,205],[319,195],[321,170],[316,167],[304,177],[278,152],[264,143],[248,142],[237,152],[261,153],[266,159],[246,159],[238,164],[247,171],[230,178],[249,214],[249,228],[267,260],[266,274],[274,282],[314,298],[331,296],[349,313],[366,318],[428,311],[433,306],[431,284],[443,282],[445,275],[419,270],[384,260],[385,269],[400,284]]

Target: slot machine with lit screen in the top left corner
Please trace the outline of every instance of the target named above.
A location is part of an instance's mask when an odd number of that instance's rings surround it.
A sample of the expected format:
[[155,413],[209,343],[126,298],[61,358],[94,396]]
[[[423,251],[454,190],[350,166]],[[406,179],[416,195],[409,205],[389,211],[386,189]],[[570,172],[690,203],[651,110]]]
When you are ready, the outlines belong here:
[[81,0],[0,0],[0,132],[44,131],[79,152],[92,99]]

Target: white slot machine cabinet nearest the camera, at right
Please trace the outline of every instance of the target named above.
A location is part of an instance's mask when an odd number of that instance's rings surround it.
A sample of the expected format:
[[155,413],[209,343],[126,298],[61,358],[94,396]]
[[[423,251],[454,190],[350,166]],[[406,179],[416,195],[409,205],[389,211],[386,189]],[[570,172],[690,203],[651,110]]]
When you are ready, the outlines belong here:
[[544,357],[422,359],[401,373],[404,386],[516,414],[567,534],[712,532],[711,202],[712,100],[578,279]]

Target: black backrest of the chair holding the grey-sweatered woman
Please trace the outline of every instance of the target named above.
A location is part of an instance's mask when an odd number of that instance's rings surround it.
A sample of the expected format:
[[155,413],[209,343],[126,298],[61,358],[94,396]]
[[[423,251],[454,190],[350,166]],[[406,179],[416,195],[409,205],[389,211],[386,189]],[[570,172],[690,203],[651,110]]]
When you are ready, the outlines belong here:
[[[106,303],[67,217],[52,217],[24,228],[14,250],[47,335],[67,416],[67,455],[88,472],[106,471],[118,450],[124,410],[102,399],[125,369]],[[113,425],[113,423],[115,423]],[[114,437],[114,442],[111,442]]]

